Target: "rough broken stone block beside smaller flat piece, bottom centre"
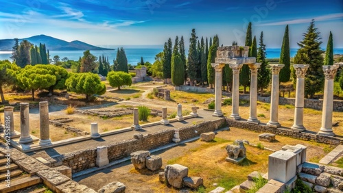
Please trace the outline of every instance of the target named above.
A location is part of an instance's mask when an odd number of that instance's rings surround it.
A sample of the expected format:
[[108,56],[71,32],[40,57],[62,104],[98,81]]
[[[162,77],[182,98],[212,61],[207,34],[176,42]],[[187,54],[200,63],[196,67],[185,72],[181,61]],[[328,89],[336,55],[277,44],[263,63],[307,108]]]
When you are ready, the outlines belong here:
[[165,166],[165,179],[174,188],[182,188],[182,179],[187,177],[188,168],[179,164]]

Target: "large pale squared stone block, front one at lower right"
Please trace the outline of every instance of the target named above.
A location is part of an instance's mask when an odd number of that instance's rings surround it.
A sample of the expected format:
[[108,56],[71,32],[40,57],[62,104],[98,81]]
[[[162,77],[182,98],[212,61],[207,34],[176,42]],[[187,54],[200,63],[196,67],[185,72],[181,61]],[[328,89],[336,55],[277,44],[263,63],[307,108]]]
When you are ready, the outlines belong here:
[[268,180],[287,183],[296,175],[296,154],[289,151],[276,151],[268,158]]

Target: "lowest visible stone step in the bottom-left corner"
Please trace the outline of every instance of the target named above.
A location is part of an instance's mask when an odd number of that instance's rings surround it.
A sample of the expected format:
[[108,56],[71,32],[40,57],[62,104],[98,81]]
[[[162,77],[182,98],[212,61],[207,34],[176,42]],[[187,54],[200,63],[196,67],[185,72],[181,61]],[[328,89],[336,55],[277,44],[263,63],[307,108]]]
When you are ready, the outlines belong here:
[[11,181],[10,187],[6,186],[7,183],[0,184],[0,193],[14,192],[22,188],[27,188],[32,185],[40,183],[42,180],[38,176],[25,177],[16,181]]

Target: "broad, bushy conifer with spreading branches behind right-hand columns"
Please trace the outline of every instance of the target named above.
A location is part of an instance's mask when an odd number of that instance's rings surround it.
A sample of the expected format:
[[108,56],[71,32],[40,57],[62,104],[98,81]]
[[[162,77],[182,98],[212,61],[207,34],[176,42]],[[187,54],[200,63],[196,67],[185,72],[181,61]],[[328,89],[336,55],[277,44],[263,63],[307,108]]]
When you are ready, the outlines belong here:
[[[322,64],[324,59],[320,50],[320,32],[314,25],[314,20],[311,21],[306,33],[303,34],[304,38],[298,42],[298,49],[294,57],[295,64],[309,64],[305,76],[305,97],[314,98],[314,94],[322,90],[324,86],[324,73],[322,71]],[[296,79],[294,79],[296,81]]]

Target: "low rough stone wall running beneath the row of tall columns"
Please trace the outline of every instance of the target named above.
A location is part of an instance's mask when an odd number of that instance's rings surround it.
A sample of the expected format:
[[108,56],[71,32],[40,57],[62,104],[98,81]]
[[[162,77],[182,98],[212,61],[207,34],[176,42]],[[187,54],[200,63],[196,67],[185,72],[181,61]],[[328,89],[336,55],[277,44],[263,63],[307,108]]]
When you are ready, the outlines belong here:
[[274,128],[274,127],[267,127],[266,125],[255,125],[251,123],[247,123],[246,121],[240,121],[240,120],[233,120],[226,118],[226,121],[228,122],[229,127],[237,127],[241,129],[248,129],[251,131],[259,131],[259,132],[268,132],[268,133],[274,133],[279,136],[287,136],[291,138],[298,138],[301,140],[313,140],[315,142],[322,142],[324,144],[343,144],[343,141],[341,142],[340,138],[335,138],[331,136],[320,136],[318,133],[314,132],[299,132],[299,131],[293,131],[292,129],[285,129],[285,128]]

